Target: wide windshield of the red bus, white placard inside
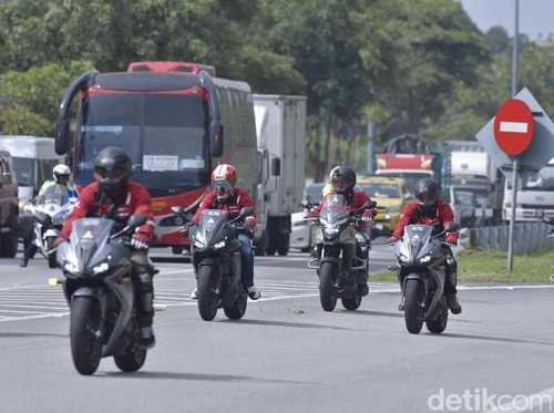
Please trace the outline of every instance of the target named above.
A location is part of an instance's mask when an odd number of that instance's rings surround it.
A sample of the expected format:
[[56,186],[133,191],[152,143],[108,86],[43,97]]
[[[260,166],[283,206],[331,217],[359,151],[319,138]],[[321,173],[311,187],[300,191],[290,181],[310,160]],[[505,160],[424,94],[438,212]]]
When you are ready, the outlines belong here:
[[[131,179],[153,196],[209,184],[209,111],[196,95],[122,93],[83,100],[75,145],[74,180],[93,180],[94,156],[120,146],[133,163]],[[156,194],[157,193],[157,194]]]

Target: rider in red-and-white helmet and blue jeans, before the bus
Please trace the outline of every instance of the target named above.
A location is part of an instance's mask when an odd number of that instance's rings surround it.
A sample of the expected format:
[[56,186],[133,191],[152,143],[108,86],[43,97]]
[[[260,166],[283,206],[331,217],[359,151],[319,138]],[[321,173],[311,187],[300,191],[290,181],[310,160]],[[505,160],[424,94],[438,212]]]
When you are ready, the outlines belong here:
[[[235,187],[237,183],[237,172],[232,165],[223,164],[217,166],[212,173],[212,190],[207,193],[193,216],[192,221],[198,224],[201,213],[205,209],[225,209],[230,217],[236,217],[242,208],[254,207],[254,203],[244,189]],[[248,297],[257,300],[260,297],[259,290],[254,286],[254,251],[252,250],[252,238],[256,226],[256,215],[253,211],[244,220],[246,234],[238,234],[240,242],[240,280],[248,290]],[[194,257],[194,255],[193,255]],[[194,265],[194,262],[193,262]],[[196,275],[197,276],[197,275]],[[198,289],[191,292],[193,300],[197,299]]]

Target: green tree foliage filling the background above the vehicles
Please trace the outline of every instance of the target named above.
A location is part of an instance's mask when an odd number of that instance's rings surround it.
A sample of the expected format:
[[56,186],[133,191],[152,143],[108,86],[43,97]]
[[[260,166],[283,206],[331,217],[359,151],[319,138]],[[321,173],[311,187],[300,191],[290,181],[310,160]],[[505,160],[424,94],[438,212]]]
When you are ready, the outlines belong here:
[[[520,35],[519,89],[553,113],[554,40]],[[255,93],[308,96],[308,174],[366,165],[400,133],[473,140],[511,95],[513,39],[456,0],[0,1],[0,132],[50,135],[92,68],[194,61]]]

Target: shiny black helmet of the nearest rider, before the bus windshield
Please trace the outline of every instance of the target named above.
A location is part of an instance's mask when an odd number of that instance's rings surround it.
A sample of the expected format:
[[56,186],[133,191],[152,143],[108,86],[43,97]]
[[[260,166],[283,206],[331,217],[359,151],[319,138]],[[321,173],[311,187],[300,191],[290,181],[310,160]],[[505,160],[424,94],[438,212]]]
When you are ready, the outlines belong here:
[[94,178],[109,195],[123,189],[130,175],[131,158],[121,147],[104,147],[94,158]]

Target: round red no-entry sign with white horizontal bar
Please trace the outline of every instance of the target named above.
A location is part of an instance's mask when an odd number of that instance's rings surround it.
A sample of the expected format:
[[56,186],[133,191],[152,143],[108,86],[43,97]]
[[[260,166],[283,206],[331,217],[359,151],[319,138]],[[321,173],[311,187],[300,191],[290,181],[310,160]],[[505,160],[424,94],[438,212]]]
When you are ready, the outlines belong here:
[[519,99],[512,99],[496,112],[494,138],[502,152],[517,156],[531,144],[534,126],[533,113],[527,104]]

